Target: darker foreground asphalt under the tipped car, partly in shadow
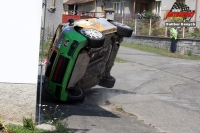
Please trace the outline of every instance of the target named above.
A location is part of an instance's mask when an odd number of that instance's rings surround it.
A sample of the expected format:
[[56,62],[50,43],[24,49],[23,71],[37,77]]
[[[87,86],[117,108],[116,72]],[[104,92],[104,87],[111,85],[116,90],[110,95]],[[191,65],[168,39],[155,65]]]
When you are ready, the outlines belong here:
[[[83,103],[60,103],[43,97],[43,116],[52,114],[67,123],[72,133],[157,133],[152,125],[139,120],[137,116],[123,112],[121,107],[108,100],[117,95],[132,94],[117,89],[93,88],[86,95]],[[112,95],[112,96],[111,96]],[[58,106],[57,106],[58,105]],[[56,110],[56,111],[55,111]],[[55,115],[54,115],[55,113]],[[43,118],[44,118],[43,117]]]

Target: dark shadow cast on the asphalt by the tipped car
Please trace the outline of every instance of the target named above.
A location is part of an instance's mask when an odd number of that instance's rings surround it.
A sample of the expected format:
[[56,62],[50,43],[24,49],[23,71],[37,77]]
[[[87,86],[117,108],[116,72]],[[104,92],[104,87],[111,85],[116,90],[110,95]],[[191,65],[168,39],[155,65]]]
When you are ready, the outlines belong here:
[[[38,92],[39,88],[40,85],[38,84]],[[83,103],[61,102],[43,93],[41,99],[41,121],[44,122],[45,119],[54,118],[65,119],[73,115],[120,118],[112,112],[103,109],[100,105],[109,105],[109,98],[121,94],[135,93],[109,88],[93,88],[86,92],[86,98]],[[39,93],[37,99],[39,99]]]

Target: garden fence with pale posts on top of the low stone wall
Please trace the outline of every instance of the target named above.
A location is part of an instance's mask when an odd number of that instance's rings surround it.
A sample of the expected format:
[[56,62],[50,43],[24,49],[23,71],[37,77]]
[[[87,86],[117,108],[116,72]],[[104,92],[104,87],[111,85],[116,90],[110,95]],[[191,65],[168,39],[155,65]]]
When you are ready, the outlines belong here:
[[[115,21],[122,22],[134,29],[135,35],[169,37],[170,28],[166,27],[167,20],[154,19],[132,19],[124,17],[123,19],[115,17]],[[200,39],[200,22],[196,22],[196,27],[179,27],[178,38]]]

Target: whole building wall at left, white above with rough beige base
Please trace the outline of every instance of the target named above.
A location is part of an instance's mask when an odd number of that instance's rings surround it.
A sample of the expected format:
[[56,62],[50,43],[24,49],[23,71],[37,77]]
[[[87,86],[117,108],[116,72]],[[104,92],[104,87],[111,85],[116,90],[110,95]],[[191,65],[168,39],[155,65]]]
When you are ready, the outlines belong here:
[[35,116],[41,0],[1,1],[0,118]]

